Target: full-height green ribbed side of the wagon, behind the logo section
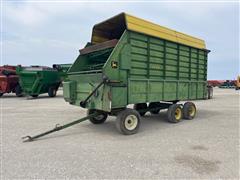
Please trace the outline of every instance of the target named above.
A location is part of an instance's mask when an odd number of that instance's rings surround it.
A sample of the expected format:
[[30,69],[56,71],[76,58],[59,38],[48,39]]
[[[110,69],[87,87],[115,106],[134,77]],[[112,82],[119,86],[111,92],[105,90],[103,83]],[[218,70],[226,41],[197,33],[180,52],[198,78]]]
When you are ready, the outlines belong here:
[[207,52],[129,32],[129,103],[202,99]]

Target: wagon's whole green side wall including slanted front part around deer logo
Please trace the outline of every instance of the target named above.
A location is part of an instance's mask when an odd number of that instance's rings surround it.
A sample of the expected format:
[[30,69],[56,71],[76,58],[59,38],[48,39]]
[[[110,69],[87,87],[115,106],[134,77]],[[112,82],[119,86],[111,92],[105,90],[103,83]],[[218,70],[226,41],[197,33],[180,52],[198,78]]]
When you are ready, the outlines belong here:
[[[118,68],[111,67],[113,62]],[[205,50],[136,32],[125,31],[103,71],[110,80],[121,82],[119,96],[126,99],[125,105],[206,97]],[[127,85],[125,89],[121,84]],[[117,97],[115,91],[112,93]],[[113,98],[112,105],[119,101]]]

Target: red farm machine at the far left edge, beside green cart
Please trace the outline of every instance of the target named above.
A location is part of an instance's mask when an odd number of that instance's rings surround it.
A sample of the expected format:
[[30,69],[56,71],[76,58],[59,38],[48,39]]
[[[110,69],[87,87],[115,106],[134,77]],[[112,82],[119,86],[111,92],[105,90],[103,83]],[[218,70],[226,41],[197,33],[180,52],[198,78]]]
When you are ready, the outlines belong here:
[[22,96],[22,89],[18,83],[16,66],[0,66],[0,97],[5,93],[15,93],[16,96]]

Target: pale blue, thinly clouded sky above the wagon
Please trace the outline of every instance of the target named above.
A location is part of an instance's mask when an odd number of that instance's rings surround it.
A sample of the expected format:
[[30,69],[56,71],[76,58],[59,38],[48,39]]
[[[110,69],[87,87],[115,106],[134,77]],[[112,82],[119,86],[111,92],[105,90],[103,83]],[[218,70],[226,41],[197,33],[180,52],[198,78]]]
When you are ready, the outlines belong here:
[[206,41],[208,79],[239,74],[238,3],[24,2],[2,7],[2,64],[72,63],[94,24],[126,12]]

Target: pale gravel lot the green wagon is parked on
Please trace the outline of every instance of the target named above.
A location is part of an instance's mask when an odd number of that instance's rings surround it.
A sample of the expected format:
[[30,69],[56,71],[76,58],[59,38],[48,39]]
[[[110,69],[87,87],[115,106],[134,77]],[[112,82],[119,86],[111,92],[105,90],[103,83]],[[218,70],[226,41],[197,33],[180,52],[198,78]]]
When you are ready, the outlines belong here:
[[214,89],[214,99],[196,101],[194,120],[166,122],[166,111],[147,114],[138,134],[124,136],[114,117],[89,121],[22,143],[85,115],[62,92],[38,99],[4,95],[1,101],[2,179],[153,179],[239,177],[239,93]]

